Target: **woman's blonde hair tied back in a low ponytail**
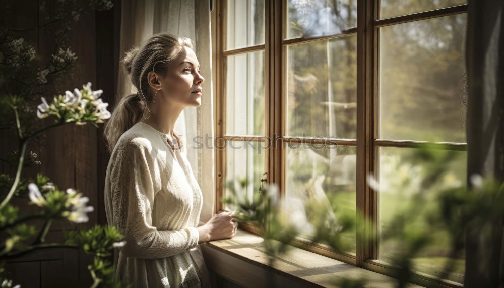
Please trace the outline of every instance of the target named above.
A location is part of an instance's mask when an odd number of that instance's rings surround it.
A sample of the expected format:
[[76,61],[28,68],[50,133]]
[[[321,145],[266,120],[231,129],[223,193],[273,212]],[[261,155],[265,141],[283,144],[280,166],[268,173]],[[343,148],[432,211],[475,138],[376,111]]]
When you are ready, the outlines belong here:
[[154,34],[140,46],[126,52],[121,64],[138,92],[123,96],[105,123],[104,135],[110,153],[119,137],[140,120],[144,110],[148,109],[147,103],[152,101],[148,73],[153,71],[160,76],[166,75],[168,65],[180,55],[184,46],[193,49],[193,40],[166,32]]

